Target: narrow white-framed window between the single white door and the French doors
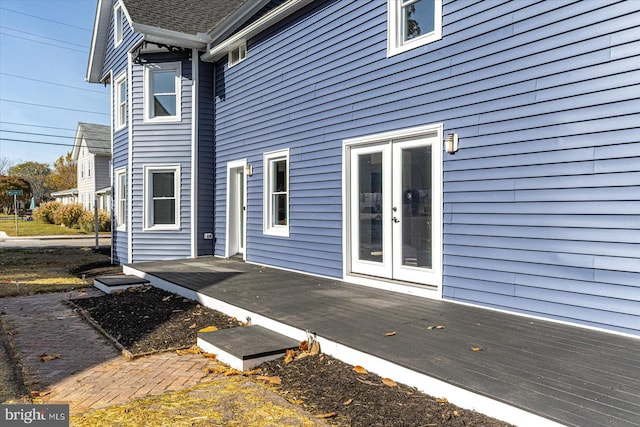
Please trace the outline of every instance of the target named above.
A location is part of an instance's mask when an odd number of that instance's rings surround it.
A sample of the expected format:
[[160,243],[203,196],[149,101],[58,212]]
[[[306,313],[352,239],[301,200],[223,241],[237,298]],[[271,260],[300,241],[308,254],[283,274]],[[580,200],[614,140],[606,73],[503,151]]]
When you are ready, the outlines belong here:
[[289,237],[289,150],[264,155],[264,232]]

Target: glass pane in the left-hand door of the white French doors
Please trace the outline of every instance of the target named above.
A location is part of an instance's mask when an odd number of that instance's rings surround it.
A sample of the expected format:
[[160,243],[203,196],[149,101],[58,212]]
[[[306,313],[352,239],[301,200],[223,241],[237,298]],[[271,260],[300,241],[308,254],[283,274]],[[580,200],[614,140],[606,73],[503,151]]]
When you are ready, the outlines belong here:
[[382,262],[382,153],[358,156],[359,258]]

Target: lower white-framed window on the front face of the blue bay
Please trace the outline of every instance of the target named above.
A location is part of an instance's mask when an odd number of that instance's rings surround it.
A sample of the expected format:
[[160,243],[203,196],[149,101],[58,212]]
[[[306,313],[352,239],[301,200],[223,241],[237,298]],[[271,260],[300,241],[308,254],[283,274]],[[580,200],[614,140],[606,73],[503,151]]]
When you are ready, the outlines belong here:
[[144,167],[144,217],[146,230],[180,228],[180,166]]

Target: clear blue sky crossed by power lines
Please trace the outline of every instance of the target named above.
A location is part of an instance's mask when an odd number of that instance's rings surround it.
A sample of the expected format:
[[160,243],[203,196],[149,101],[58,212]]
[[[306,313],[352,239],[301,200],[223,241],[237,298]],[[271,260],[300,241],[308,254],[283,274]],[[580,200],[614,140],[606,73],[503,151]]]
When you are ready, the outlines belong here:
[[109,88],[84,80],[96,3],[0,0],[0,158],[52,165],[78,122],[109,124]]

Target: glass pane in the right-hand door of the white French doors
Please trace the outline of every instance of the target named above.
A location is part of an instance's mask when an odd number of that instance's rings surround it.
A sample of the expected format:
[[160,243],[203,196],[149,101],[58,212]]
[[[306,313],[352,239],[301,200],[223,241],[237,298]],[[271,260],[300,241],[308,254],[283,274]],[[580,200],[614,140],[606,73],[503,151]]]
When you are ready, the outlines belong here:
[[402,150],[402,265],[432,268],[431,146]]

